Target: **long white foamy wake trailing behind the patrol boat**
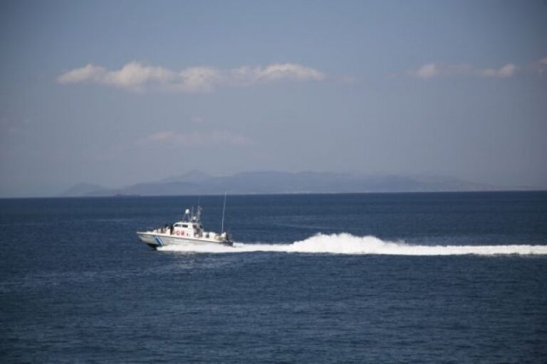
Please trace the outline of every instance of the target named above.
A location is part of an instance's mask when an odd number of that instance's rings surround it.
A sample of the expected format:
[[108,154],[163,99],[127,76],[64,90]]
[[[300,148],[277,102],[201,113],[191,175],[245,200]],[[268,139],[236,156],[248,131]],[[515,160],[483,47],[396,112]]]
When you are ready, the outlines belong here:
[[239,253],[287,252],[347,255],[547,255],[547,245],[413,245],[390,242],[373,236],[348,233],[318,234],[291,244],[173,245],[160,247],[170,252]]

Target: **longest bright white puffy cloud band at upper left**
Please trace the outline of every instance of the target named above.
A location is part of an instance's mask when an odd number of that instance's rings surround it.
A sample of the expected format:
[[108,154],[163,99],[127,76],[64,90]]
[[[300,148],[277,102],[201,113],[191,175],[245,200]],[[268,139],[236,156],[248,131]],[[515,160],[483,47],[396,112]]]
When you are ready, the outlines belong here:
[[136,92],[211,92],[219,85],[250,86],[258,83],[324,79],[325,74],[321,71],[296,63],[274,63],[265,67],[243,66],[230,70],[199,66],[174,71],[134,61],[120,70],[108,70],[88,64],[63,73],[57,78],[57,82],[63,85],[94,83]]

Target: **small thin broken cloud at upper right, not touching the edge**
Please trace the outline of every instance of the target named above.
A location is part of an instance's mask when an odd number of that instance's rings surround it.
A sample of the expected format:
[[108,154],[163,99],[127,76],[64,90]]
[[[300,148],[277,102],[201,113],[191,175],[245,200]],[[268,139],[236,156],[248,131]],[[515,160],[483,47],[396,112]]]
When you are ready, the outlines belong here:
[[508,78],[518,70],[513,63],[507,63],[501,68],[476,68],[468,64],[427,63],[417,70],[410,70],[407,76],[426,80],[442,76],[470,76],[484,78]]

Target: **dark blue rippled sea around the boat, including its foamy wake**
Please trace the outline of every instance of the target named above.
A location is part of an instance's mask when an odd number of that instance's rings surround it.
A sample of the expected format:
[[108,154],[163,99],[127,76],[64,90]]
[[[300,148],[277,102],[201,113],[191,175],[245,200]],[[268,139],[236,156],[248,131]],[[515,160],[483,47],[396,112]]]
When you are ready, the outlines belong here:
[[0,200],[1,363],[547,363],[547,193]]

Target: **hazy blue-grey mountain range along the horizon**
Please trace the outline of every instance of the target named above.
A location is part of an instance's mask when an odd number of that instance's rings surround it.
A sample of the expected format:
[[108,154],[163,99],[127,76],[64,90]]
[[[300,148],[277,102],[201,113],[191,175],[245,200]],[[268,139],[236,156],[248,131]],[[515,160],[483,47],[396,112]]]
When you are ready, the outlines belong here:
[[[61,193],[63,197],[91,196],[179,196],[275,193],[366,193],[366,192],[448,192],[501,191],[507,188],[460,181],[439,176],[363,176],[330,172],[258,171],[232,176],[210,176],[190,171],[162,181],[137,183],[121,188],[80,183]],[[513,188],[526,190],[527,188]]]

